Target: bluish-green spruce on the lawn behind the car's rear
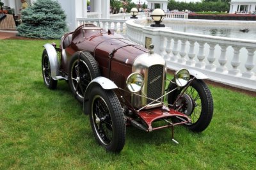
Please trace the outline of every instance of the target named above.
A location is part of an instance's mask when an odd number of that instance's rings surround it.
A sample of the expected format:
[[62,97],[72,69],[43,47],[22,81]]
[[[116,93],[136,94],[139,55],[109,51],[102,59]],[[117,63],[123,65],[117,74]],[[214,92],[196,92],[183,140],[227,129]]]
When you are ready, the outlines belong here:
[[19,36],[58,39],[67,31],[66,15],[56,0],[37,0],[21,12]]

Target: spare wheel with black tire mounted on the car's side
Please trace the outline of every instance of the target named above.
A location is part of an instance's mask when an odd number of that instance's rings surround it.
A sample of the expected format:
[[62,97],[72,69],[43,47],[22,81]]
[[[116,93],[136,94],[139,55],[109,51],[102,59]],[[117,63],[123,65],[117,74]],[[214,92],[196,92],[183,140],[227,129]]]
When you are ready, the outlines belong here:
[[100,76],[97,61],[88,52],[77,52],[70,61],[68,84],[79,102],[84,100],[84,91],[88,84]]

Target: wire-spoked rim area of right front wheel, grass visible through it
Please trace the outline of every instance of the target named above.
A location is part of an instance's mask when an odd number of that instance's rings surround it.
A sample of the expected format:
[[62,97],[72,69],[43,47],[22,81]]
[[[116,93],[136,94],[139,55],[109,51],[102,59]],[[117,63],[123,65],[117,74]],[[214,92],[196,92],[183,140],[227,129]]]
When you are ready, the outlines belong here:
[[193,100],[193,112],[189,115],[189,118],[191,119],[191,124],[195,124],[202,113],[202,100],[200,98],[200,95],[198,94],[198,91],[193,88],[192,86],[189,86],[189,88],[186,91],[186,94],[191,97]]

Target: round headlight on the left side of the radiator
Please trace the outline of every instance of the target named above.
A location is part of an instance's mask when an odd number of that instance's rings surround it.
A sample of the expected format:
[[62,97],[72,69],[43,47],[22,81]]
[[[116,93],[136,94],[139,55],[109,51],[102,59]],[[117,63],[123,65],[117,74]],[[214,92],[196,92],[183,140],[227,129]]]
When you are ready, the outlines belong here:
[[126,80],[126,84],[132,93],[136,93],[143,87],[144,77],[140,73],[131,73]]

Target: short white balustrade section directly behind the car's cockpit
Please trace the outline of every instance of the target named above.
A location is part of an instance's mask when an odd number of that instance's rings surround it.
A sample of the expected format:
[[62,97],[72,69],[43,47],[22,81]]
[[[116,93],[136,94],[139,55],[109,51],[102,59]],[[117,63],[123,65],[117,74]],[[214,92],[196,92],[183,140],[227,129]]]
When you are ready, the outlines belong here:
[[102,27],[103,29],[114,29],[117,33],[124,33],[124,29],[126,27],[125,25],[126,20],[122,19],[83,19],[83,18],[77,18],[77,27],[81,26],[82,24],[95,24],[95,26]]

